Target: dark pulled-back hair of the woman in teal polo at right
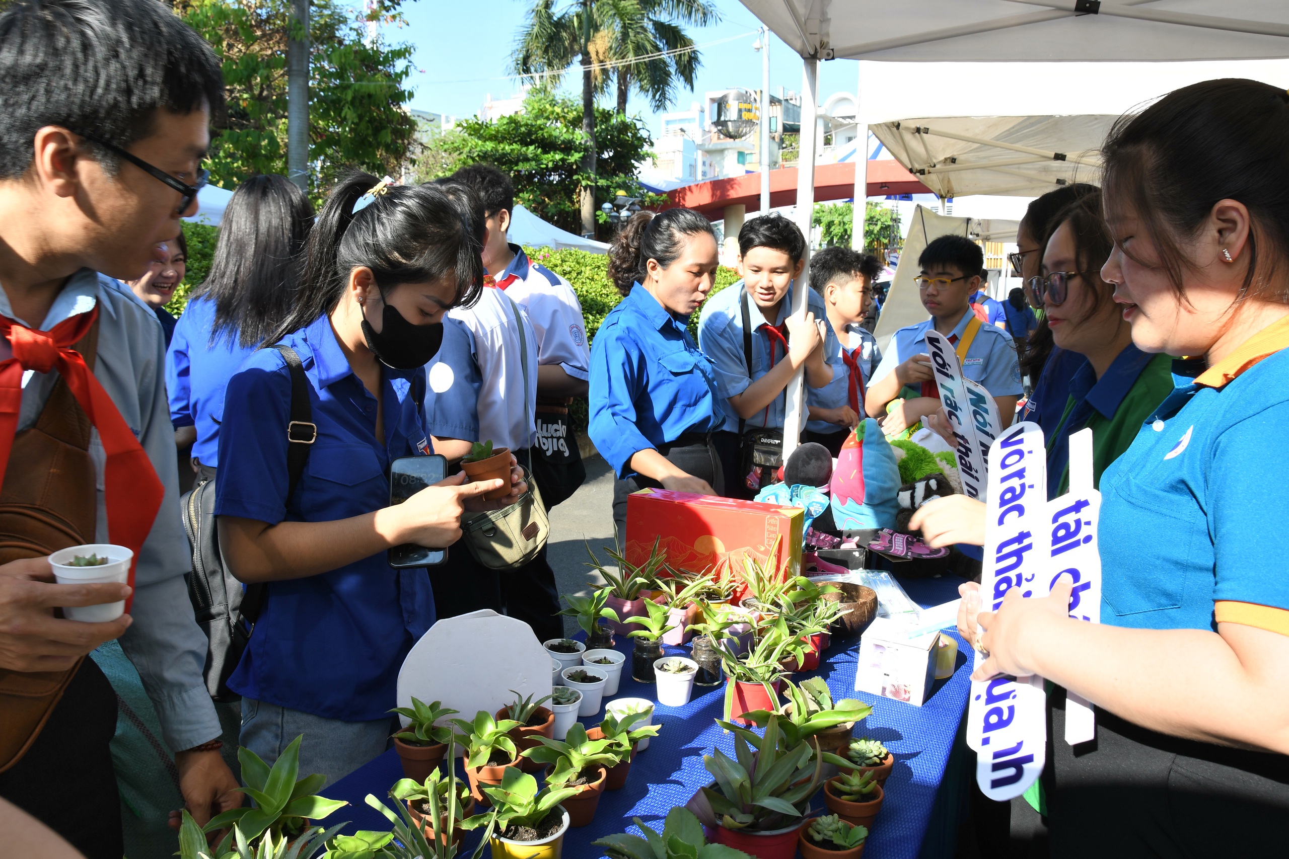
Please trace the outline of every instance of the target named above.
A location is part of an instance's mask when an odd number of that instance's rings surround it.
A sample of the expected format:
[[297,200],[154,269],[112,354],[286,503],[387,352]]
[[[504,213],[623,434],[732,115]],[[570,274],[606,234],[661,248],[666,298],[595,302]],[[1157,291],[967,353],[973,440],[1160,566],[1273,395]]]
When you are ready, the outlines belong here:
[[1196,265],[1182,245],[1219,200],[1249,209],[1249,268],[1235,301],[1289,304],[1275,283],[1289,258],[1289,93],[1227,77],[1173,90],[1137,116],[1124,116],[1101,148],[1106,215],[1130,212],[1156,259],[1125,256],[1167,272],[1185,299]]

